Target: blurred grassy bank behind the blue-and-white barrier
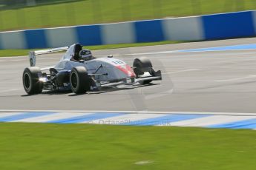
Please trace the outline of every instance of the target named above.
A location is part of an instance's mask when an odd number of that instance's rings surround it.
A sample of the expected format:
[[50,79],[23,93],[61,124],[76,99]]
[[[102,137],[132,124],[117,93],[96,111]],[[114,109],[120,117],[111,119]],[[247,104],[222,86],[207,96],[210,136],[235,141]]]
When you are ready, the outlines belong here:
[[255,0],[0,0],[0,30],[102,24],[254,9]]

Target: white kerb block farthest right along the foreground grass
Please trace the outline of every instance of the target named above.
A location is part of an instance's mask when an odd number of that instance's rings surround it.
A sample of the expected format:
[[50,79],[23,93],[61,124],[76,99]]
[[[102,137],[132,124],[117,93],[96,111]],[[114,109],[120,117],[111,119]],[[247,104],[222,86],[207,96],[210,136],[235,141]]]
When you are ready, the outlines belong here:
[[191,120],[183,120],[165,124],[164,126],[211,126],[222,123],[231,123],[240,120],[249,120],[256,118],[255,116],[230,116],[230,115],[214,115],[206,118],[196,118]]

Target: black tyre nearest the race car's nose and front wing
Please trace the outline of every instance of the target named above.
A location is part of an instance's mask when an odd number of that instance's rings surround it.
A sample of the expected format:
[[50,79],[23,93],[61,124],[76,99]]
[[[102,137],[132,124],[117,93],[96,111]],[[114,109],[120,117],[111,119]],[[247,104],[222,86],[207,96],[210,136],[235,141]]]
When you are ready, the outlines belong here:
[[[134,67],[134,73],[137,76],[137,78],[139,78],[140,75],[143,75],[144,72],[149,72],[150,74],[152,74],[152,67],[153,67],[152,63],[146,57],[135,58],[133,67]],[[140,84],[149,84],[149,83],[151,83],[151,81],[140,82]]]

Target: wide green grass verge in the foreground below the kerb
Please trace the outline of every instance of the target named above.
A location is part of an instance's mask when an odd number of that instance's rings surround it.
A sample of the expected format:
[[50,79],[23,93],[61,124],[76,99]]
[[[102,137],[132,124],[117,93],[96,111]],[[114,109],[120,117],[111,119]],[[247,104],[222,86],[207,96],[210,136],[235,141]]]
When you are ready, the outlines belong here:
[[[256,132],[0,123],[0,169],[255,169]],[[149,160],[151,163],[136,165]]]

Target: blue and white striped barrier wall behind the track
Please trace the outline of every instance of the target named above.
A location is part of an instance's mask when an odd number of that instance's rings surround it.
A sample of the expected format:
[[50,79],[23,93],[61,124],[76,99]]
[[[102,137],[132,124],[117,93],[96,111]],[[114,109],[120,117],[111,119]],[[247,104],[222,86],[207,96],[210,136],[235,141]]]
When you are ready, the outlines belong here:
[[0,33],[0,49],[153,41],[200,41],[256,35],[256,11]]

